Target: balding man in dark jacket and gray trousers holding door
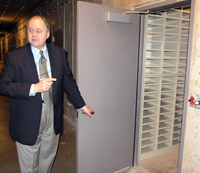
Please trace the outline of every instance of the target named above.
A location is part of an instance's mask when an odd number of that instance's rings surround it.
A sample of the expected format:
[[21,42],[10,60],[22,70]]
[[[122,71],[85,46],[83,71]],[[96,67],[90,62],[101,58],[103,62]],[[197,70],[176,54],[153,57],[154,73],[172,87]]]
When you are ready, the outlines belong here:
[[10,136],[16,141],[20,170],[47,173],[63,129],[63,88],[75,108],[85,105],[66,61],[65,51],[46,43],[47,20],[34,16],[27,25],[27,44],[5,55],[0,94],[10,97]]

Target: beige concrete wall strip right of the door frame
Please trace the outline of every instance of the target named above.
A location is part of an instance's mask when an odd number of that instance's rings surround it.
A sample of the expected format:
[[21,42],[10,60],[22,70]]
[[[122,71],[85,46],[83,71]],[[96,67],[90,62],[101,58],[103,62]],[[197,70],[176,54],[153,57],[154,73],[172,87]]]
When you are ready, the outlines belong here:
[[[200,94],[200,1],[196,0],[189,94]],[[188,96],[189,98],[189,96]],[[200,171],[200,109],[187,106],[181,173]]]

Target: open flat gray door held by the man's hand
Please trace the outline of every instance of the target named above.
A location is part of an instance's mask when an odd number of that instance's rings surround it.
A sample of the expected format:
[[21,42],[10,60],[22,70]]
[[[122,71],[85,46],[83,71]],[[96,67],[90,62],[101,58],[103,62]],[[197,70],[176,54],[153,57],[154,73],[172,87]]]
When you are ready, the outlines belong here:
[[[139,16],[81,1],[77,11],[77,83],[87,105],[95,110],[92,119],[78,111],[77,172],[129,170],[134,144]],[[107,12],[112,12],[109,21]]]

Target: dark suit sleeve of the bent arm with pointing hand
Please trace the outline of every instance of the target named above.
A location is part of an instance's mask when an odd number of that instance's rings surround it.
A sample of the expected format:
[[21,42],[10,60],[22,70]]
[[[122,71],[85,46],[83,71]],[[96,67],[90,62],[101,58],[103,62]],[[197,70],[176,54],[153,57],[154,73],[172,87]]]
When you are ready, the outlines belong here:
[[7,53],[3,71],[0,74],[0,95],[18,99],[30,99],[31,84],[18,81],[17,70],[19,69],[16,68],[14,57],[11,58]]

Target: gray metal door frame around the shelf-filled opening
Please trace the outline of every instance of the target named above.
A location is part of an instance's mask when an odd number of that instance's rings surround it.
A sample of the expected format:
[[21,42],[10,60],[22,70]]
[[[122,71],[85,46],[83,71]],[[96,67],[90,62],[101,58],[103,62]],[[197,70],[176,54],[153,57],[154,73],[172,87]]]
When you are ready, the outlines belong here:
[[[178,173],[181,173],[181,166],[182,166],[182,159],[183,159],[183,147],[184,147],[184,136],[185,136],[185,127],[186,127],[186,116],[187,116],[187,105],[188,105],[188,95],[189,95],[189,80],[190,80],[190,67],[191,67],[191,58],[192,58],[192,42],[193,42],[193,31],[194,31],[194,16],[195,16],[195,4],[196,0],[186,0],[181,2],[176,2],[174,0],[168,0],[167,2],[155,2],[155,3],[147,3],[146,5],[139,5],[134,8],[135,11],[157,11],[157,10],[165,10],[168,8],[175,8],[178,6],[184,6],[191,4],[191,17],[190,17],[190,32],[189,32],[189,43],[188,43],[188,58],[187,58],[187,72],[186,72],[186,82],[185,82],[185,96],[184,96],[184,109],[183,109],[183,115],[182,115],[182,129],[181,129],[181,141],[180,141],[180,152],[179,152],[179,163],[178,163]],[[141,19],[141,23],[144,22],[143,19]],[[143,25],[142,25],[143,26]],[[144,30],[143,27],[141,27],[141,33]],[[140,39],[143,39],[143,34],[140,34]],[[138,81],[141,81],[142,79],[142,41],[140,40],[140,48],[139,48],[139,73],[138,73]],[[138,82],[138,95],[137,98],[140,98],[141,95],[141,87],[140,83]],[[139,101],[137,102],[137,108],[136,108],[136,124],[135,124],[135,147],[134,147],[134,156],[133,156],[133,167],[137,164],[137,145],[138,145],[138,134],[139,134],[139,121],[140,121],[140,108],[139,108]]]

